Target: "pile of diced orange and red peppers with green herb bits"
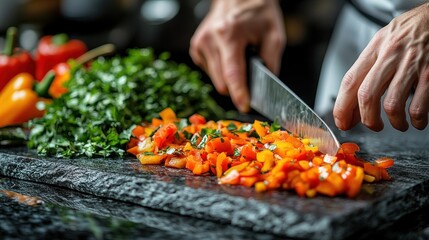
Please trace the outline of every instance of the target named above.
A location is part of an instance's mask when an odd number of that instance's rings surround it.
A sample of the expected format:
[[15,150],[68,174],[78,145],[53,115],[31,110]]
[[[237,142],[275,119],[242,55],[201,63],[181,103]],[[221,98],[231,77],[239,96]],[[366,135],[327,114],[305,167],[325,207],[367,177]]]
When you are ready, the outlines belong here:
[[374,164],[356,156],[354,143],[343,143],[336,156],[325,155],[308,139],[255,120],[206,121],[194,114],[176,117],[171,108],[160,118],[136,126],[128,152],[142,164],[187,168],[196,175],[213,174],[220,184],[295,190],[299,196],[346,195],[355,197],[363,181],[390,180],[391,158]]

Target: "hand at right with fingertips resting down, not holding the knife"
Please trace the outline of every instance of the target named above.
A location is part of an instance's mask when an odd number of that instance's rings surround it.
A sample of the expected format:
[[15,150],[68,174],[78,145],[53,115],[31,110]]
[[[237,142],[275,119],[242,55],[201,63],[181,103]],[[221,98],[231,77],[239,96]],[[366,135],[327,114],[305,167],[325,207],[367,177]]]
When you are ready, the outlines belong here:
[[359,120],[374,131],[384,127],[383,108],[391,125],[408,129],[406,101],[414,88],[408,114],[416,129],[424,129],[429,113],[429,4],[423,4],[378,31],[345,74],[334,107],[342,130]]

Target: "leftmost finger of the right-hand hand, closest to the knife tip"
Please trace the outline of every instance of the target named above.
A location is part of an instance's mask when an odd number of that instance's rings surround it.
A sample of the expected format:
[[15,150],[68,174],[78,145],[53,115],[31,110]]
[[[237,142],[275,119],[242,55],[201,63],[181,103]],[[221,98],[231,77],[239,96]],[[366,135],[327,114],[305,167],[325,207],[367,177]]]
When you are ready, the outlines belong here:
[[344,75],[334,105],[335,125],[341,130],[348,130],[358,122],[356,111],[359,111],[359,86],[376,61],[376,55],[364,50],[353,66]]

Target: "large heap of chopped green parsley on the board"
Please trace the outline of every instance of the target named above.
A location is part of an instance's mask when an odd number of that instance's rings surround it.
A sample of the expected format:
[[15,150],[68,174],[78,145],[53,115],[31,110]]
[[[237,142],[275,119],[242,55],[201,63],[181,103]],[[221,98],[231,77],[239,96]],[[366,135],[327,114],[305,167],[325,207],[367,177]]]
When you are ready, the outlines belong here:
[[152,49],[130,49],[126,56],[77,67],[66,87],[68,93],[55,99],[43,118],[30,122],[28,145],[41,155],[123,155],[134,125],[166,107],[178,117],[223,114],[198,72],[169,60],[168,53],[156,57]]

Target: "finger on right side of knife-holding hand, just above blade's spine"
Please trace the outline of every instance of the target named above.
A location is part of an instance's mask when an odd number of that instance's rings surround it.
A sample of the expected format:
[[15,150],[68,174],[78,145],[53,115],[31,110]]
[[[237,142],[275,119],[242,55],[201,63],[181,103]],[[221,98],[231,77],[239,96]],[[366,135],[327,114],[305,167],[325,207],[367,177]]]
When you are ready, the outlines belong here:
[[281,60],[286,37],[281,33],[271,33],[261,44],[260,55],[268,69],[274,74],[280,73]]

